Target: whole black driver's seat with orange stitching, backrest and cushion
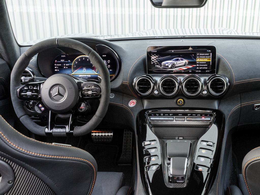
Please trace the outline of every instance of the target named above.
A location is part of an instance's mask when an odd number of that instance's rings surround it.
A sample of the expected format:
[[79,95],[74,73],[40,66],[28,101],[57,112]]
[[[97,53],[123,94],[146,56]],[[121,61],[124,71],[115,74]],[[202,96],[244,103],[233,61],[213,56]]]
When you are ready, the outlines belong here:
[[[0,194],[127,195],[132,192],[124,186],[123,173],[97,172],[96,161],[88,152],[28,138],[2,116],[0,163],[4,165],[0,166]],[[6,166],[14,173],[7,174]],[[11,189],[3,192],[8,186]]]

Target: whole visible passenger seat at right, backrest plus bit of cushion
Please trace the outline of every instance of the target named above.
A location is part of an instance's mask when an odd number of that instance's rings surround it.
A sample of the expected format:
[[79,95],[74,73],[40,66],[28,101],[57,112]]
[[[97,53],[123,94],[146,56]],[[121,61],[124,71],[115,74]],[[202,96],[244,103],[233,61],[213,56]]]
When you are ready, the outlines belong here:
[[242,163],[242,174],[239,174],[239,187],[229,186],[229,195],[260,194],[260,147],[248,152]]

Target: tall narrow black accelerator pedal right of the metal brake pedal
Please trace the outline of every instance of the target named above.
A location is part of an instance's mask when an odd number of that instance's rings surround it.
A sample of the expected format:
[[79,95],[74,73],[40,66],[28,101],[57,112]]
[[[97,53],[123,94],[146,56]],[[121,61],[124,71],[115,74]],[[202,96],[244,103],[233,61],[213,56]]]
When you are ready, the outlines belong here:
[[124,130],[122,155],[118,161],[120,164],[131,164],[132,162],[132,132]]

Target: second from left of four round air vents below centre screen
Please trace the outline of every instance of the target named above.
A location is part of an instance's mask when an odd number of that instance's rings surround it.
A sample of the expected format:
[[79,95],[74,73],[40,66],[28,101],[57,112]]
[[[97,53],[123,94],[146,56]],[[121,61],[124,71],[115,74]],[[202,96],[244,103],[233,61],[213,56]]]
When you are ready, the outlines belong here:
[[179,82],[173,76],[162,77],[159,81],[159,90],[165,96],[173,96],[178,92]]

